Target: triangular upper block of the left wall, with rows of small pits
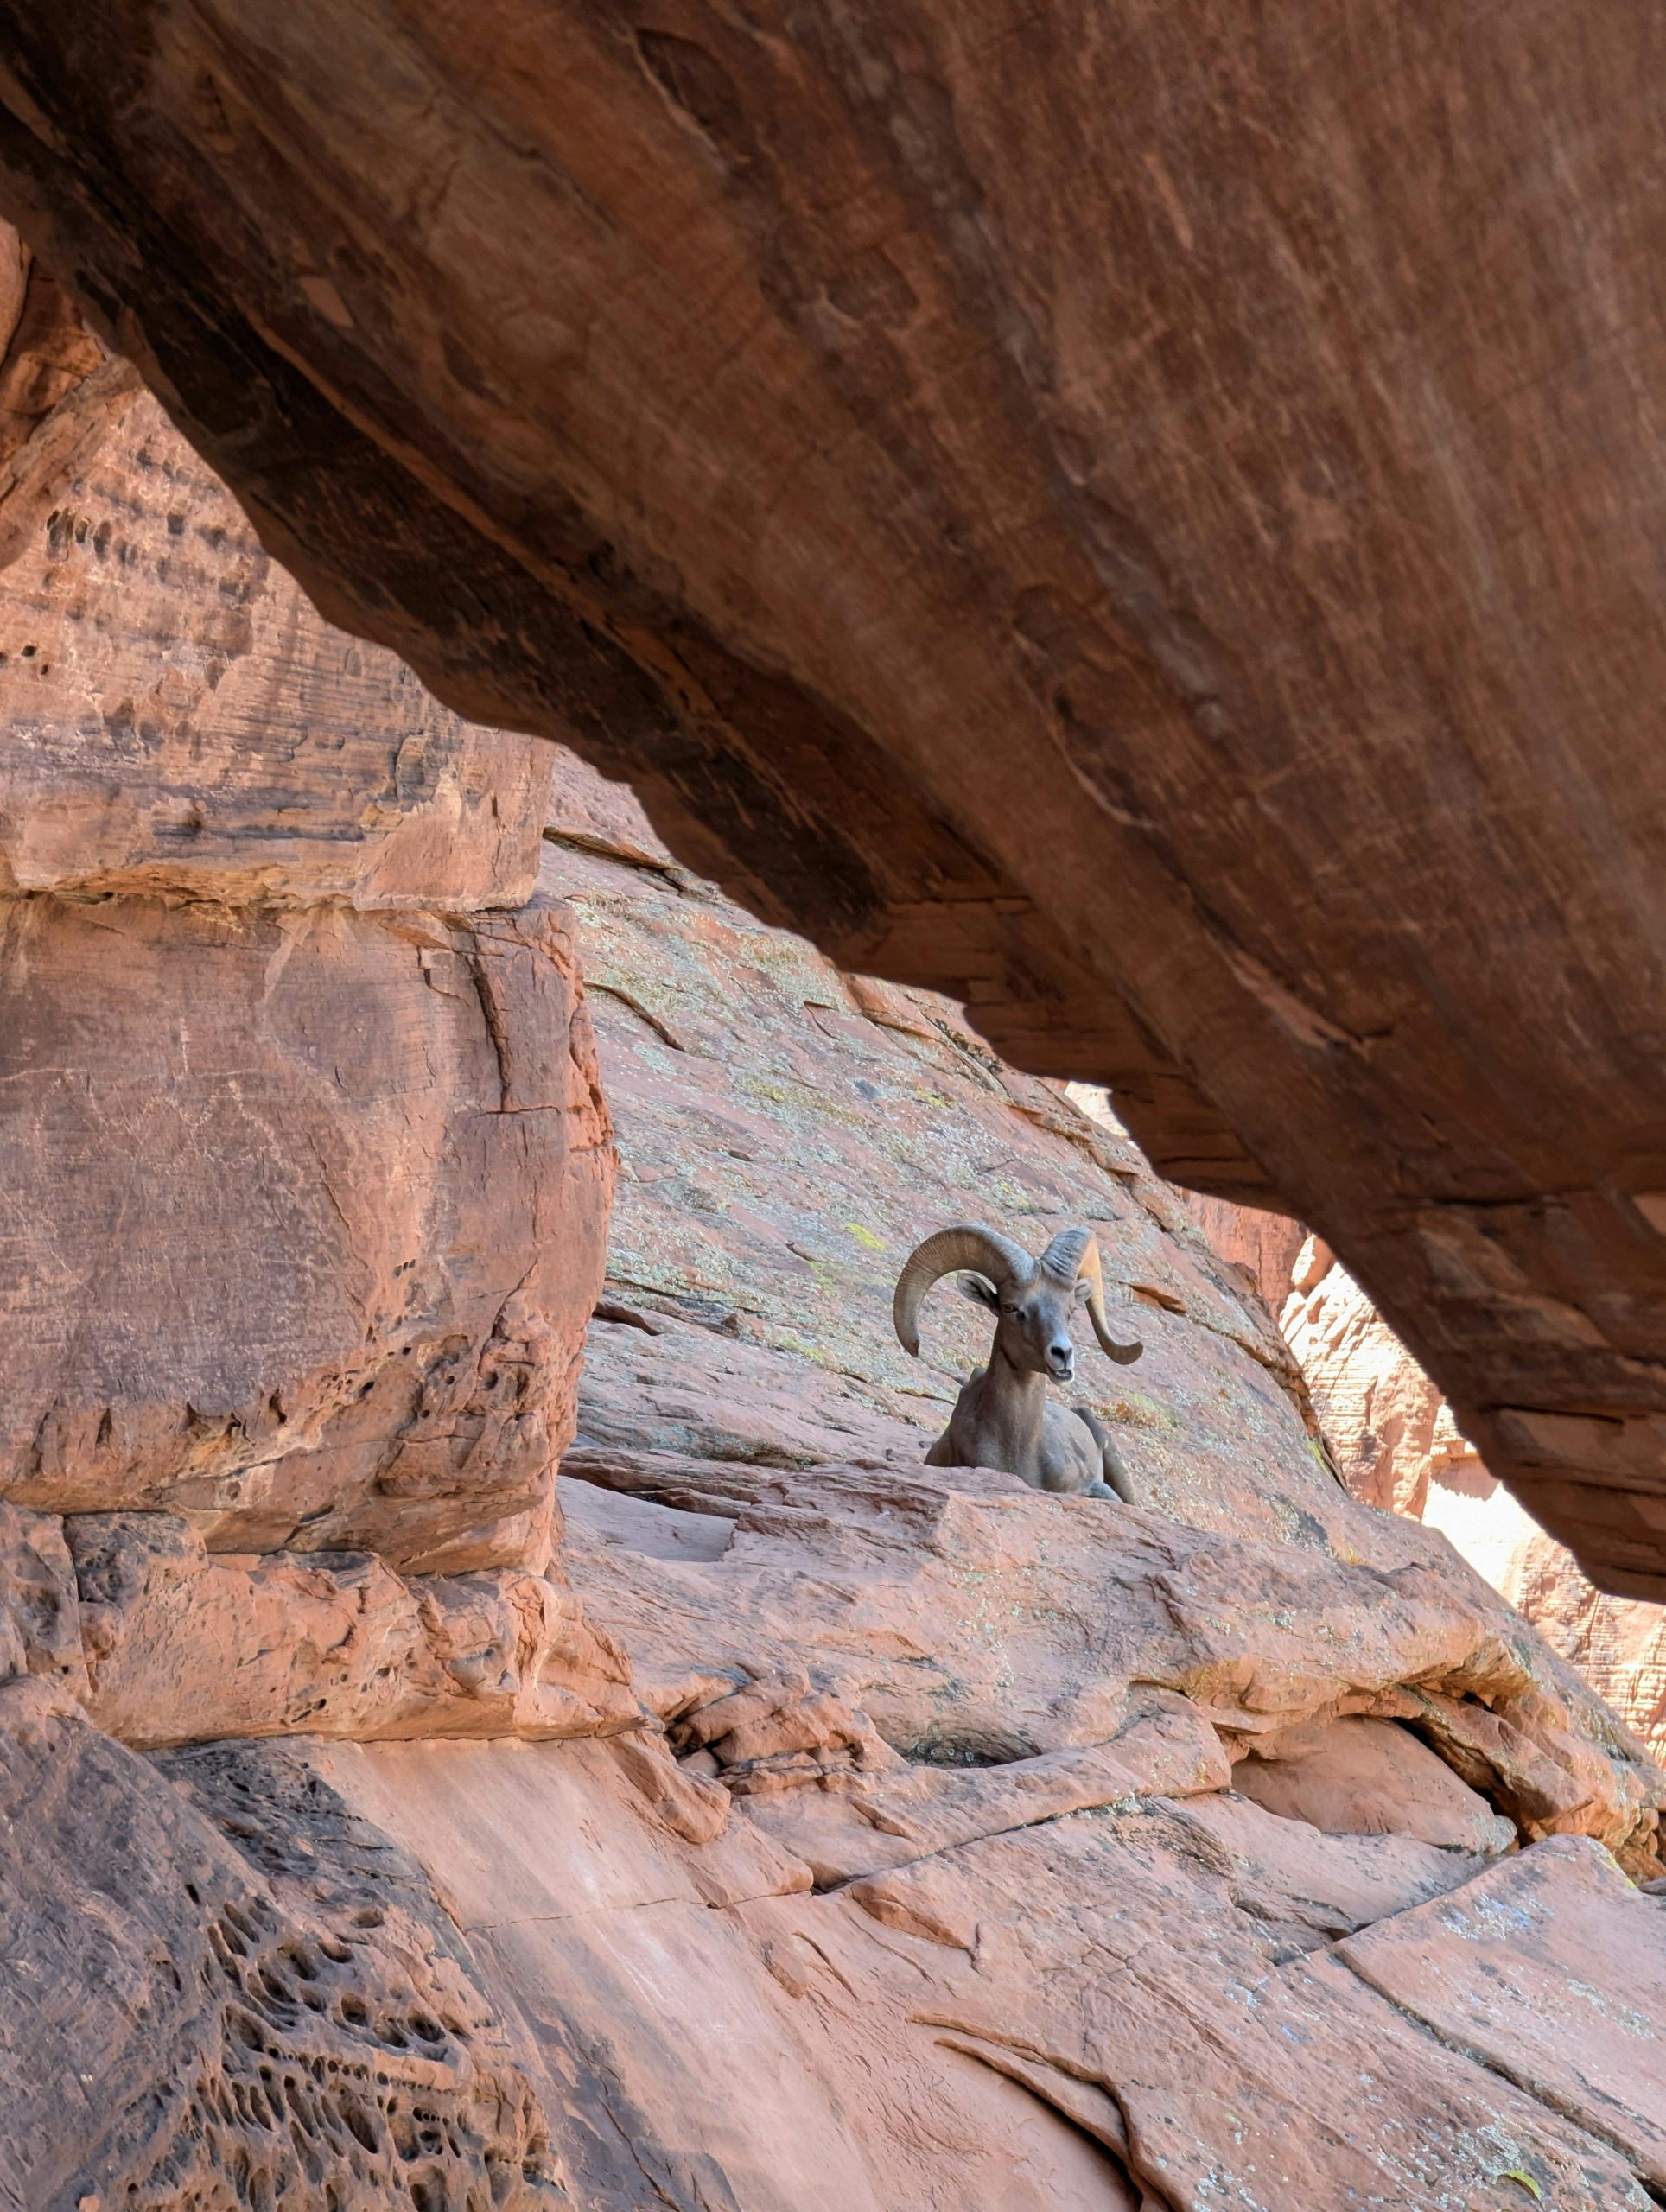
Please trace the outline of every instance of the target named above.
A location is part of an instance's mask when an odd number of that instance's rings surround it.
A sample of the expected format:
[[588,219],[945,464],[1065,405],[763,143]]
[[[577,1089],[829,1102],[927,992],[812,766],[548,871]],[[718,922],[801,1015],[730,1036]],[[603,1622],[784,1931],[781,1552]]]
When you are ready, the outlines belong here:
[[544,750],[332,630],[148,396],[0,568],[0,889],[531,898]]

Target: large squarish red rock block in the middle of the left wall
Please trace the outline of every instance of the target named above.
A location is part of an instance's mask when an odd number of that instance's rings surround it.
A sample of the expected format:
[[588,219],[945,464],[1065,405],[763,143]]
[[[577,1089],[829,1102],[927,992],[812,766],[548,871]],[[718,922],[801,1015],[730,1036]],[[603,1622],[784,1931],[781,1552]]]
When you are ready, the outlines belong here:
[[0,1493],[546,1557],[613,1159],[571,922],[0,905]]

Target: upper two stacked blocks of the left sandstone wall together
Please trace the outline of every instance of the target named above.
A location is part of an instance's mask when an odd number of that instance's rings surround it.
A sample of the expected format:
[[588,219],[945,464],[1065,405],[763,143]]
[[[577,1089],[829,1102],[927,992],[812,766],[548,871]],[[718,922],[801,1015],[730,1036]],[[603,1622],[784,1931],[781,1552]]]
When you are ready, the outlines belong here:
[[0,1495],[540,1562],[611,1155],[542,754],[133,405],[0,571]]

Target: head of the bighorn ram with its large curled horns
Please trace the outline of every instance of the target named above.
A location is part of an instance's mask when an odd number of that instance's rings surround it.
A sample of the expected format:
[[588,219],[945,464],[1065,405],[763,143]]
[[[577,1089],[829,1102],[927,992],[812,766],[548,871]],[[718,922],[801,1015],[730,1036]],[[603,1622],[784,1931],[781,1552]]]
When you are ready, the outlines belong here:
[[1104,1274],[1093,1230],[1060,1230],[1040,1259],[978,1223],[938,1230],[909,1256],[896,1281],[892,1321],[905,1352],[920,1352],[920,1301],[945,1274],[996,1316],[996,1345],[1020,1374],[1075,1376],[1071,1316],[1084,1305],[1100,1349],[1128,1365],[1144,1345],[1120,1345],[1104,1318]]

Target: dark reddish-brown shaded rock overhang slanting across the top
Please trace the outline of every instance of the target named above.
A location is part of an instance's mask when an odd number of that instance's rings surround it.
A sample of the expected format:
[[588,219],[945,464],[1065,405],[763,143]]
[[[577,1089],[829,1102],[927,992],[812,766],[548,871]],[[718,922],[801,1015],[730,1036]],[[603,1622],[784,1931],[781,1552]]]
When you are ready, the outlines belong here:
[[1281,1197],[1662,1595],[1651,9],[4,27],[7,208],[334,619]]

